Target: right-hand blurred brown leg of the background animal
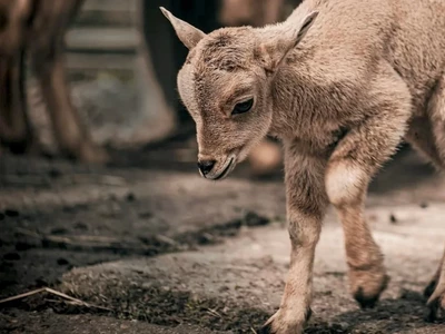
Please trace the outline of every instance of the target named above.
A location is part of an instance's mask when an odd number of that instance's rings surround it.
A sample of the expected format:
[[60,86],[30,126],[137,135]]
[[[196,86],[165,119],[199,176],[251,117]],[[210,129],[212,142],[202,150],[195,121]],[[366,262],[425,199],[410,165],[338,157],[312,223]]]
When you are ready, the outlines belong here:
[[29,49],[59,148],[83,163],[102,164],[108,155],[93,144],[72,105],[65,69],[63,38],[82,3],[83,0],[41,1],[33,23],[36,38]]

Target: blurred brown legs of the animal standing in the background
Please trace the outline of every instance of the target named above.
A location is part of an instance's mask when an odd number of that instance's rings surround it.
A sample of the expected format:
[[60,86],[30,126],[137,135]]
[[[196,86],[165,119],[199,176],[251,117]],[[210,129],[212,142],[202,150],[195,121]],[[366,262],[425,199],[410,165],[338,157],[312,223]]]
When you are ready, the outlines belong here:
[[27,116],[29,56],[60,150],[86,163],[103,163],[72,106],[63,68],[63,37],[83,0],[0,0],[0,139],[12,151],[34,144]]

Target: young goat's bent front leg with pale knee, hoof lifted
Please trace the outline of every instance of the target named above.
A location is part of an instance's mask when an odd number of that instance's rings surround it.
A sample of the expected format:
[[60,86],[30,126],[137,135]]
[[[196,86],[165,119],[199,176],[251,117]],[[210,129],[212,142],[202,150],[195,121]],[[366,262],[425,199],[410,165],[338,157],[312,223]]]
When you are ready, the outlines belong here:
[[409,108],[402,101],[382,102],[378,115],[352,129],[326,169],[326,193],[343,224],[350,291],[362,307],[373,307],[388,283],[383,254],[365,220],[364,202],[372,177],[404,135]]

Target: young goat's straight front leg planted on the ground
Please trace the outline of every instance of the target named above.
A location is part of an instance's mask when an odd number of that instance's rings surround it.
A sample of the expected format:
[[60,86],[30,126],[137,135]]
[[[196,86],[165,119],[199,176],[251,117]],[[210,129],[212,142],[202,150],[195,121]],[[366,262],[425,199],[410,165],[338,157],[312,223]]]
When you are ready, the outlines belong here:
[[327,157],[299,151],[297,144],[285,144],[290,268],[279,311],[261,333],[303,333],[310,316],[314,254],[328,204],[324,187]]

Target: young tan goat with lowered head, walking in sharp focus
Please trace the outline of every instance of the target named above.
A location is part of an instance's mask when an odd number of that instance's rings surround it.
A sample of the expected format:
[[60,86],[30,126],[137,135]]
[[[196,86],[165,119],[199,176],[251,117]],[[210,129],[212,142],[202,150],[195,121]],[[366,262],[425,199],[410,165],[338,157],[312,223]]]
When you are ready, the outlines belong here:
[[[208,35],[162,11],[189,49],[178,88],[201,175],[224,179],[267,134],[284,144],[291,259],[263,331],[303,333],[329,202],[350,291],[374,306],[388,276],[364,214],[370,179],[404,138],[445,168],[445,2],[305,0],[281,23]],[[445,308],[445,256],[426,293],[435,316]]]

